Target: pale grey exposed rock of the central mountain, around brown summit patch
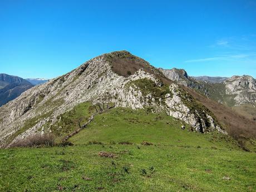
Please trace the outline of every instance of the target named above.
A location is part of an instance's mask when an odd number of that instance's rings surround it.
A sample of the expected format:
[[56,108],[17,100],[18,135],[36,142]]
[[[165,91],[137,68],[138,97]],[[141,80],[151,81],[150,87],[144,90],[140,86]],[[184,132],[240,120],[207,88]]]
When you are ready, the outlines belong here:
[[[140,62],[142,67],[127,77],[118,75],[112,70],[114,62],[106,54],[83,63],[66,75],[32,87],[0,108],[1,146],[7,141],[16,141],[42,130],[50,131],[49,127],[55,124],[60,114],[85,101],[104,101],[106,95],[115,106],[132,109],[151,107],[152,112],[165,111],[197,131],[218,130],[225,133],[206,108],[194,106],[196,110],[191,110],[187,106],[193,104],[193,98],[188,93],[184,94],[185,91],[175,84],[165,88],[159,78],[161,73],[149,63],[126,51],[112,55],[127,60],[127,63]],[[134,58],[136,62],[131,61]],[[149,86],[141,86],[141,81]]]

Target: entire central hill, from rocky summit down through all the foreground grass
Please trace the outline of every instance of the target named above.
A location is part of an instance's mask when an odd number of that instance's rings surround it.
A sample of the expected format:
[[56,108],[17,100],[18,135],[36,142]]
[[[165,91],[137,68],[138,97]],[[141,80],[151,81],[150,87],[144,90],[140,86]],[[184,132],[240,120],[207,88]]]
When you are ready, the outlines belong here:
[[0,191],[254,191],[254,125],[107,53],[0,107]]

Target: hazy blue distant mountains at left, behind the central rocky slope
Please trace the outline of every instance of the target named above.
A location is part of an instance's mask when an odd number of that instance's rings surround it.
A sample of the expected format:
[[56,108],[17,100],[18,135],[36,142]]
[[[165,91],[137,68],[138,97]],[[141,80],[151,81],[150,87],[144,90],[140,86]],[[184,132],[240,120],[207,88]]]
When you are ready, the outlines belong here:
[[28,78],[25,80],[18,76],[0,73],[0,106],[7,104],[7,102],[15,99],[29,88],[47,81],[41,78]]

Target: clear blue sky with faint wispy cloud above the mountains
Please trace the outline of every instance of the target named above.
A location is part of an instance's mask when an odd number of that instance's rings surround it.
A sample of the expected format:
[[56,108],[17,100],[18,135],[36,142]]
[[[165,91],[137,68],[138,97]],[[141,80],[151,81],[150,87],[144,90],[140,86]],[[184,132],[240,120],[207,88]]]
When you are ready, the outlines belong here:
[[117,50],[190,76],[256,77],[256,0],[0,0],[0,73],[52,78]]

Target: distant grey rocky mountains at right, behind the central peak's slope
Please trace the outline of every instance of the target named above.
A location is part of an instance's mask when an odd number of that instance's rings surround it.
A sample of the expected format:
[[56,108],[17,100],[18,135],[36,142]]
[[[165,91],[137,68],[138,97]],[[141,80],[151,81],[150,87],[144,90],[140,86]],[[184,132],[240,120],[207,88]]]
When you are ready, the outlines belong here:
[[160,70],[170,80],[191,87],[221,104],[233,107],[256,102],[256,81],[251,76],[189,77],[184,70]]

